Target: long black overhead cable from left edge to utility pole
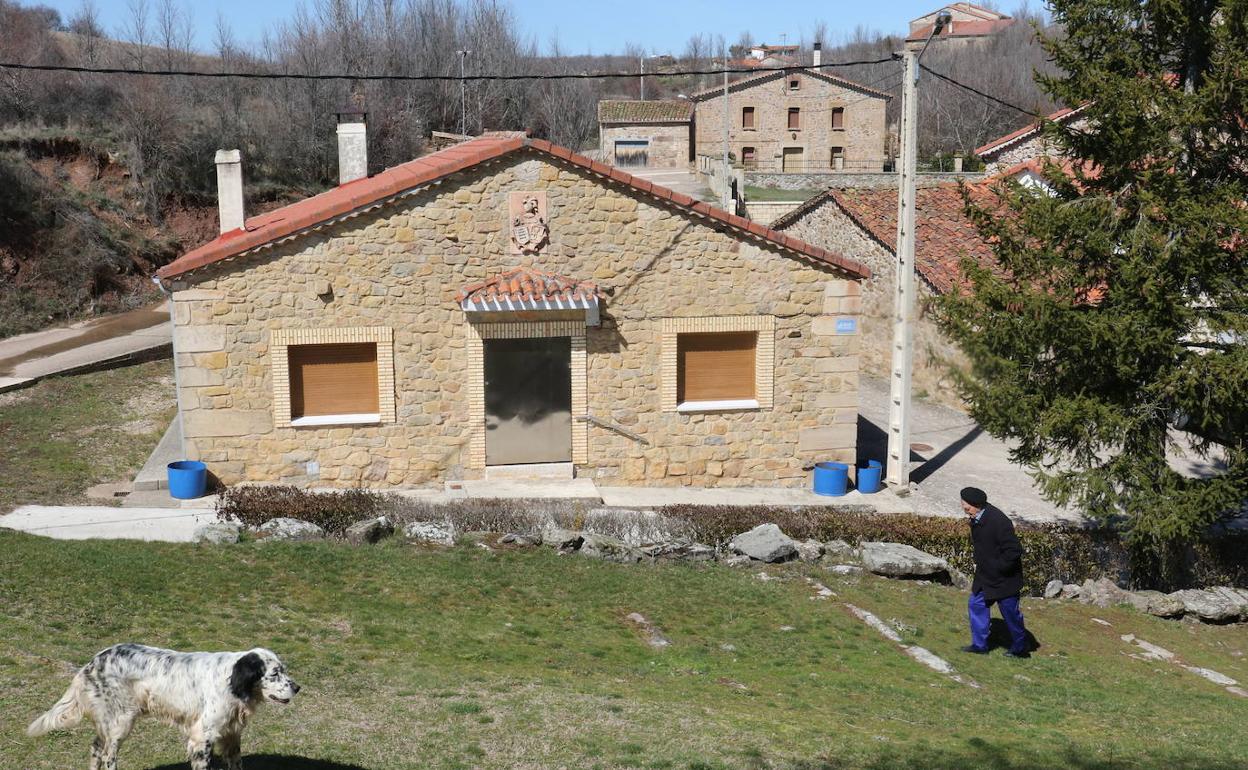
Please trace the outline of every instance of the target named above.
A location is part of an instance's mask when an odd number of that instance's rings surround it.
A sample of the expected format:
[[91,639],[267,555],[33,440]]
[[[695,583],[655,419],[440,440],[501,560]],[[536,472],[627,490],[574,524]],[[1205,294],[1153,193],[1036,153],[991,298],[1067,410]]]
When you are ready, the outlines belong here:
[[[826,67],[854,67],[871,64],[885,64],[892,61],[892,56],[885,59],[867,59],[860,61],[834,61],[817,66],[790,66],[769,67],[761,72],[801,72],[804,70],[822,70]],[[305,72],[202,72],[196,70],[135,70],[127,67],[79,67],[60,64],[16,64],[0,62],[0,69],[30,70],[40,72],[80,72],[86,75],[147,75],[157,77],[240,77],[248,80],[377,80],[377,81],[502,81],[502,80],[607,80],[619,77],[639,77],[638,72],[568,72],[568,74],[527,74],[527,75],[308,75]],[[678,70],[674,72],[651,72],[650,76],[681,76],[681,75],[724,75],[724,74],[751,74],[759,75],[758,67],[720,67],[716,70]]]

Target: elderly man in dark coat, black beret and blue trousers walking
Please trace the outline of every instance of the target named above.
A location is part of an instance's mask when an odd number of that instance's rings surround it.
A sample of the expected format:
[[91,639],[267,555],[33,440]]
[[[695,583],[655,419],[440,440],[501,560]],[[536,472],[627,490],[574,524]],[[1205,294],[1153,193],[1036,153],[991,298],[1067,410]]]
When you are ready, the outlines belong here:
[[988,504],[982,489],[962,489],[962,510],[971,520],[971,545],[975,553],[975,582],[967,614],[971,619],[971,644],[963,653],[987,655],[988,626],[992,605],[1001,608],[1001,616],[1010,629],[1007,658],[1030,658],[1027,629],[1022,624],[1018,595],[1022,593],[1022,545],[1015,535],[1010,517]]

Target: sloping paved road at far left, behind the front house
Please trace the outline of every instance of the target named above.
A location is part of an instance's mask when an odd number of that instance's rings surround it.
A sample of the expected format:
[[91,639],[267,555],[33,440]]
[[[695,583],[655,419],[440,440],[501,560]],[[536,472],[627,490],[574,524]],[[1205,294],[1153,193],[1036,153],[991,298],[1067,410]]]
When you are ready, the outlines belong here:
[[0,393],[52,374],[158,358],[171,349],[171,336],[168,307],[161,303],[0,339]]

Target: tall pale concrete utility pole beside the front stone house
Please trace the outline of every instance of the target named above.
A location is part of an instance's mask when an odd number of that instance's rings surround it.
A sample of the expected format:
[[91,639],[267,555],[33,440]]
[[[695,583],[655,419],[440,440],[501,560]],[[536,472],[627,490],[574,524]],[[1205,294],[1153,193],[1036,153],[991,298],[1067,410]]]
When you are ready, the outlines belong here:
[[886,480],[910,489],[910,374],[915,321],[915,170],[917,152],[916,91],[919,55],[902,51],[906,74],[901,92],[901,160],[897,172],[897,285],[892,311],[892,376],[889,379],[889,463]]

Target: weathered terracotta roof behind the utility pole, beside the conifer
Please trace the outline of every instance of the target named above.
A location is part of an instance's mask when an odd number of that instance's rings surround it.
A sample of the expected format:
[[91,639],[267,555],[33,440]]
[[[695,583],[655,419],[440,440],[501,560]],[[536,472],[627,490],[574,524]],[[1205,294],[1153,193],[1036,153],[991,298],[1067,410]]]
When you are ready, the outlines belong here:
[[[986,185],[970,186],[972,198],[991,203]],[[850,187],[826,190],[771,223],[784,228],[822,205],[835,205],[885,248],[896,252],[896,188]],[[962,283],[958,263],[963,255],[983,266],[996,265],[991,246],[963,213],[958,185],[921,187],[916,191],[915,267],[936,291]]]

